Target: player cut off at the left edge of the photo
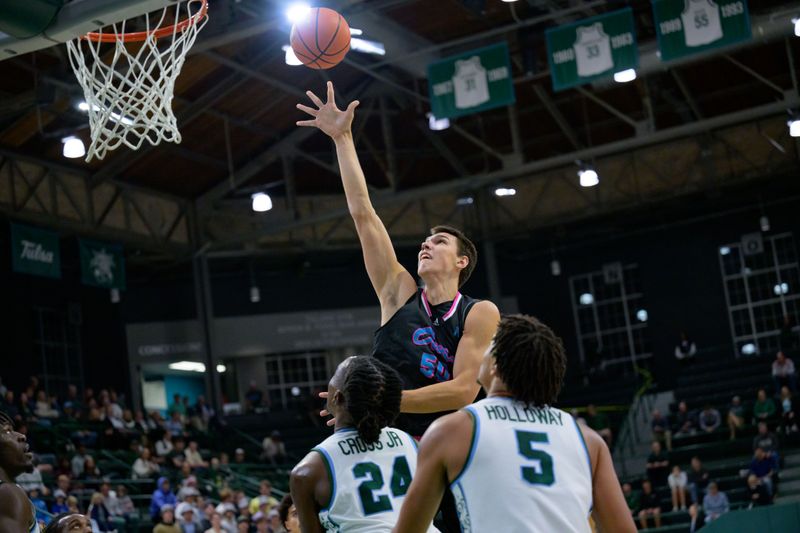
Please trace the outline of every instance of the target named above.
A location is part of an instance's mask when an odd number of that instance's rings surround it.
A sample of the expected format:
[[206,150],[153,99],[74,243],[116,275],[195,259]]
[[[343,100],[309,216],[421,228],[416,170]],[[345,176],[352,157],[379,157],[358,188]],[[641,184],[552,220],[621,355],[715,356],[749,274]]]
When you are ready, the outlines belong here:
[[40,533],[33,504],[15,483],[23,472],[33,472],[33,454],[14,421],[0,412],[0,531]]

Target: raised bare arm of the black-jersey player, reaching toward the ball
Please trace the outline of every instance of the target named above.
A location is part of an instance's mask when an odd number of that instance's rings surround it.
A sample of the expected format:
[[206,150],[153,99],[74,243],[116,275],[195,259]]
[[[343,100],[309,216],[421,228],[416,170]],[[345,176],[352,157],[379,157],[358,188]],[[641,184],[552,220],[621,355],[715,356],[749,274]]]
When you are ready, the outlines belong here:
[[311,91],[306,91],[306,94],[316,109],[303,104],[297,104],[297,108],[311,115],[313,120],[300,120],[297,125],[318,128],[336,144],[347,208],[361,241],[367,274],[381,302],[381,324],[385,324],[414,294],[417,285],[411,274],[397,261],[389,233],[369,199],[367,181],[358,162],[351,130],[359,102],[350,102],[345,110],[340,110],[336,107],[331,82],[328,82],[328,99],[325,103]]

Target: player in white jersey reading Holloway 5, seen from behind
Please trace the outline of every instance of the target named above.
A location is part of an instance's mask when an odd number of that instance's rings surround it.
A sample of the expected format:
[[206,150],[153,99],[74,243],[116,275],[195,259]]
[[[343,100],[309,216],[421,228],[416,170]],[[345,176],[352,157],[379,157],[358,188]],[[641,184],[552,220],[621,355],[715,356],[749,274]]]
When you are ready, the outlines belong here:
[[450,485],[465,533],[633,533],[603,439],[551,407],[567,359],[561,339],[537,319],[504,316],[483,357],[487,398],[440,418],[419,461],[394,531],[425,531]]

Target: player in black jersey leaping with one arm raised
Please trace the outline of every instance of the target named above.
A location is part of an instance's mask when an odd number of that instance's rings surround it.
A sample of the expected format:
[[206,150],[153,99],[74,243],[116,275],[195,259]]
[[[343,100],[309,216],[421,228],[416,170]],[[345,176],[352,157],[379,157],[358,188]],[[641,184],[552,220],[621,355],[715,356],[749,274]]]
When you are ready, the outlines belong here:
[[[494,336],[500,314],[490,301],[459,292],[477,262],[475,246],[459,230],[437,226],[423,240],[414,277],[398,262],[391,239],[378,217],[358,161],[351,125],[359,102],[336,106],[333,84],[327,102],[306,94],[315,107],[297,108],[313,119],[298,126],[320,129],[336,144],[342,184],[355,222],[364,264],[381,305],[381,327],[375,333],[373,355],[395,368],[403,380],[402,413],[397,426],[421,436],[443,412],[472,402],[481,356]],[[325,413],[327,414],[327,413]],[[454,521],[455,513],[446,513]],[[458,531],[457,523],[448,524]]]

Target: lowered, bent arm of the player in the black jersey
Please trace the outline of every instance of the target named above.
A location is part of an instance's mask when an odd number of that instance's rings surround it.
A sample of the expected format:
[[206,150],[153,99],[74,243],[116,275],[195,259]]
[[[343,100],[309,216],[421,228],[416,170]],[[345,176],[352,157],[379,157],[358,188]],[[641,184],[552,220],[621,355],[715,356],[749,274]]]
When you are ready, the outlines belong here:
[[453,379],[414,390],[403,391],[400,411],[436,413],[460,409],[472,403],[480,390],[478,370],[494,338],[500,312],[492,302],[478,302],[467,315],[464,335],[458,342]]

